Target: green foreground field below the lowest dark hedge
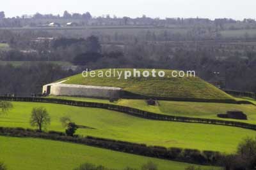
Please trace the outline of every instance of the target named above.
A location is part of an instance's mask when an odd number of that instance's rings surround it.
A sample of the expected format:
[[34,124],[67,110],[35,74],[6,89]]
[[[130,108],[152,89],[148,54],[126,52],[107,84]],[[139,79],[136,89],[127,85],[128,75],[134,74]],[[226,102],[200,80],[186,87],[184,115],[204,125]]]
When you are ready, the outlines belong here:
[[161,170],[183,170],[189,166],[189,164],[181,162],[32,138],[0,136],[0,150],[0,160],[5,162],[8,170],[72,170],[84,162],[101,164],[115,169],[124,169],[126,166],[139,169],[141,164],[145,164],[148,160],[158,164]]

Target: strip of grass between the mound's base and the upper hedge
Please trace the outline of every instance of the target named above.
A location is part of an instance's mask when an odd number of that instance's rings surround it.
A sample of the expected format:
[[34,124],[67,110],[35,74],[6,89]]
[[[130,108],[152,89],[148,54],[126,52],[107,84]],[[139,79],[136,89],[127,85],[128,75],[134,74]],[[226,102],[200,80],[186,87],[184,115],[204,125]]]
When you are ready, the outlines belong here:
[[[51,96],[52,98],[58,99],[69,99],[75,101],[88,101],[96,103],[109,103],[109,100],[104,99],[90,99],[82,97],[63,97],[63,96]],[[238,99],[237,100],[246,100]],[[256,104],[256,101],[250,100]],[[199,103],[199,102],[179,102],[179,101],[158,101],[157,106],[148,106],[144,100],[134,99],[120,99],[115,103],[122,106],[129,106],[132,108],[138,108],[140,110],[151,111],[154,113],[161,113],[164,115],[176,115],[184,117],[199,117],[199,118],[214,118],[220,120],[231,120],[248,122],[256,124],[256,106],[252,104],[225,104],[225,103]],[[234,120],[234,119],[223,119],[218,118],[218,113],[226,113],[230,110],[241,110],[248,115],[248,120]]]

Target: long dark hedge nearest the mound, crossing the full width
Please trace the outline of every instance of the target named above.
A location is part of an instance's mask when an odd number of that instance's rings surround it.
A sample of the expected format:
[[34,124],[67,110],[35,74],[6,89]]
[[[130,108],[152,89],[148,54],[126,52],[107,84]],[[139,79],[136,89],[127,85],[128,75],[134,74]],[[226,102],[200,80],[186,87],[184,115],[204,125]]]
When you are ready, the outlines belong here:
[[36,102],[36,103],[54,103],[54,104],[65,104],[70,106],[88,107],[88,108],[102,108],[106,110],[119,111],[132,115],[135,117],[147,118],[150,120],[162,120],[170,122],[184,122],[193,124],[212,124],[212,125],[227,125],[232,127],[240,127],[244,129],[251,129],[256,131],[255,124],[248,124],[244,122],[235,122],[230,120],[216,120],[209,118],[193,118],[193,117],[177,117],[172,115],[161,115],[159,113],[152,113],[149,111],[143,111],[136,108],[127,106],[119,106],[115,104],[106,103],[93,103],[85,101],[72,101],[65,99],[53,99],[45,97],[0,97],[2,101],[20,101],[20,102]]

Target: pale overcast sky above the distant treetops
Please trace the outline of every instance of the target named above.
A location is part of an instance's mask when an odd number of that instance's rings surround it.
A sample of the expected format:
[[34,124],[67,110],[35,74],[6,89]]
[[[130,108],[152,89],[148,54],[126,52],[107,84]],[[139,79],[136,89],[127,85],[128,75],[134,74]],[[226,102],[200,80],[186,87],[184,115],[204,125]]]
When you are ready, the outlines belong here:
[[36,12],[47,14],[84,13],[93,16],[117,17],[201,17],[201,18],[256,18],[255,0],[6,0],[0,11],[7,17]]

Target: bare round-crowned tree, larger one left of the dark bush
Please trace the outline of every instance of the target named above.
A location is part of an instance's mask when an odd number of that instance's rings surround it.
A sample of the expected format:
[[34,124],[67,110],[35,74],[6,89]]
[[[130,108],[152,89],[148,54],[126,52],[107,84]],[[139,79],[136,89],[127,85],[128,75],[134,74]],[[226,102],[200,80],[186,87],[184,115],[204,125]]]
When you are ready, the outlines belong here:
[[51,117],[45,108],[33,108],[30,118],[30,124],[32,127],[38,127],[38,131],[42,132],[42,129],[46,128],[50,123]]

